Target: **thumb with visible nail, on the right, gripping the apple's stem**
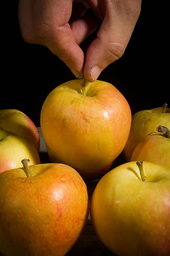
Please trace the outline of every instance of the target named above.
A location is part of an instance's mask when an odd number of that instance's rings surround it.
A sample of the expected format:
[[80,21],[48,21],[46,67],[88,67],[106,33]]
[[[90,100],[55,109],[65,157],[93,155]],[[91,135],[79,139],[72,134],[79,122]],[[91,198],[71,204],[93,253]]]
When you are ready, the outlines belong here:
[[111,4],[105,6],[106,15],[97,38],[88,47],[85,56],[84,77],[87,81],[95,81],[105,67],[121,58],[125,52],[140,14],[141,5],[138,0],[134,1],[134,12],[133,8],[128,6],[123,6],[122,9]]

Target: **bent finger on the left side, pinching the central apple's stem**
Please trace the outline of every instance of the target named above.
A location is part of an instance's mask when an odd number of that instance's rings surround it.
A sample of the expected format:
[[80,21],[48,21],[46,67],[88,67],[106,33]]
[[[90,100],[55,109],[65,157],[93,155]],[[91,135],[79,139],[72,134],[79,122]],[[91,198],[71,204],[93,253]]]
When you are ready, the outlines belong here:
[[[68,24],[71,11],[72,0],[34,0],[29,17],[32,19],[32,33],[31,37],[25,35],[25,40],[48,47],[77,78],[82,78],[84,53]],[[23,14],[26,12],[25,9]]]

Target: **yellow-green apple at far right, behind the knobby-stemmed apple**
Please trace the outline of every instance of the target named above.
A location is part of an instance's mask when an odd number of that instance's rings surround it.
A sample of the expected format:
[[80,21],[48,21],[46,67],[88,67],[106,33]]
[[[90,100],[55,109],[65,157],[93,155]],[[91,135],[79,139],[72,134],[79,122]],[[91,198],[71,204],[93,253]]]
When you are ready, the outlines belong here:
[[127,162],[130,161],[138,143],[160,124],[170,129],[170,108],[167,108],[167,104],[164,104],[163,108],[142,110],[132,115],[130,134],[123,149]]

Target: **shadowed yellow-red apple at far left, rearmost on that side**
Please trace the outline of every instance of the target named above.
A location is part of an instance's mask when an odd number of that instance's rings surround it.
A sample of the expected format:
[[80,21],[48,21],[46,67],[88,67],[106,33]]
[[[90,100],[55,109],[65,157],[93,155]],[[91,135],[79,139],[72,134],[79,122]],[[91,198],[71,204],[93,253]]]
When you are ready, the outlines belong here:
[[25,113],[16,109],[0,110],[0,130],[13,132],[29,140],[39,152],[39,133],[34,123]]

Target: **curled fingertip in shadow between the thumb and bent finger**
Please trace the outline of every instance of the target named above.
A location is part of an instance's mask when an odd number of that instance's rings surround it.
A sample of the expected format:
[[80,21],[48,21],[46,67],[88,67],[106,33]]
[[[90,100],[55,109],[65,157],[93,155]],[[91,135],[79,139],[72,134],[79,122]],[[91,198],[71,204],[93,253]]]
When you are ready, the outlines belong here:
[[92,17],[83,16],[71,23],[71,30],[74,34],[76,43],[81,44],[91,33],[93,33],[98,24]]

